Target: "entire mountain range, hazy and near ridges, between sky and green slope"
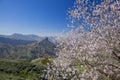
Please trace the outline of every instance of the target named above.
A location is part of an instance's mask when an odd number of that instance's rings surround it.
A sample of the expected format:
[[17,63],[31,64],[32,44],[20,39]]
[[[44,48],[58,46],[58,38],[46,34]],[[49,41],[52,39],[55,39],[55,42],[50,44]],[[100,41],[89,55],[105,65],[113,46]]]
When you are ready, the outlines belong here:
[[1,59],[26,59],[55,57],[54,37],[37,35],[0,35]]

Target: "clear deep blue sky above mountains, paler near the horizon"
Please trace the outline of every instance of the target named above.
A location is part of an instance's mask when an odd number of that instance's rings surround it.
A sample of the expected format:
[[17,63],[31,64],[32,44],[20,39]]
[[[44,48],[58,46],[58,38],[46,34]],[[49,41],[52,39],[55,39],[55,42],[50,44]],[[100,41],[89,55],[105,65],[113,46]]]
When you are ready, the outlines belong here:
[[0,34],[53,36],[67,28],[75,0],[0,0]]

